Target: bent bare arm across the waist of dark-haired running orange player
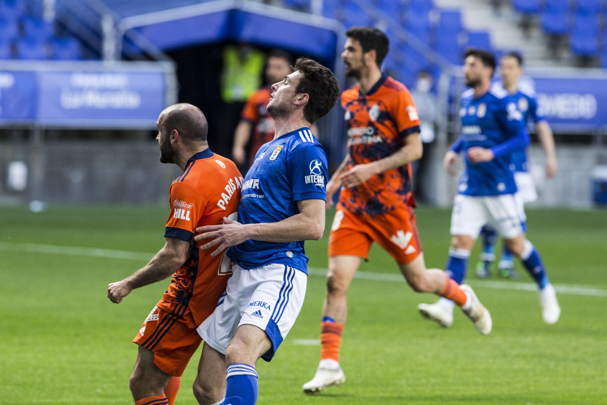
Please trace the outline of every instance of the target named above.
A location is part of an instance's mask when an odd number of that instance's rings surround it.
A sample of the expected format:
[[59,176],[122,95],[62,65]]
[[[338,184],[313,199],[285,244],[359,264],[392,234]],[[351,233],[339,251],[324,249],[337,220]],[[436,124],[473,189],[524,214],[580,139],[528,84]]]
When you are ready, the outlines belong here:
[[395,167],[401,167],[410,162],[418,160],[423,152],[419,133],[409,134],[404,139],[405,145],[390,156],[379,159],[379,161],[356,165],[341,176],[341,181],[346,187],[354,187],[364,183],[373,176],[384,173]]

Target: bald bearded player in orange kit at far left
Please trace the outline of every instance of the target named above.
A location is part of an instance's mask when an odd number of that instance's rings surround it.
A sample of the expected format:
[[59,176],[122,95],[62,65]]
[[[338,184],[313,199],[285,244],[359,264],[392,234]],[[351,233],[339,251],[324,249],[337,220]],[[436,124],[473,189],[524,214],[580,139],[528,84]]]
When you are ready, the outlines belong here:
[[[129,386],[136,405],[175,401],[179,378],[202,341],[196,328],[215,309],[231,275],[229,258],[200,251],[204,242],[195,241],[194,232],[222,224],[224,217],[237,220],[243,181],[233,162],[209,149],[208,125],[197,107],[172,105],[161,112],[157,126],[160,161],[183,170],[169,192],[166,243],[148,265],[107,287],[107,297],[120,303],[133,289],[172,274],[168,290],[133,339],[139,351]],[[220,386],[223,373],[217,374]],[[205,401],[204,393],[194,395]]]

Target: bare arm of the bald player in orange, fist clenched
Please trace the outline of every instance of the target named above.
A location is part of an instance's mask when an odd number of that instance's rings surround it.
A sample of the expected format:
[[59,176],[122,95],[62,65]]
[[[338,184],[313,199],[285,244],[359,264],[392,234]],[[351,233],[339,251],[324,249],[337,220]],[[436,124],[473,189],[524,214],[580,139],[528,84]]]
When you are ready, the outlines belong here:
[[188,258],[189,241],[165,237],[164,247],[152,260],[124,280],[107,285],[107,298],[120,303],[135,288],[164,280],[181,267]]

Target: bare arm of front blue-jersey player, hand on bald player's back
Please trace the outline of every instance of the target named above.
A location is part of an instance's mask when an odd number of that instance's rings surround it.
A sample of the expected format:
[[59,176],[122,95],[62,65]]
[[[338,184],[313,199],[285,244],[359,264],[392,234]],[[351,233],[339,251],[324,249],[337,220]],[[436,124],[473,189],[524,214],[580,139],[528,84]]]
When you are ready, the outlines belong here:
[[221,254],[230,246],[236,246],[246,240],[260,240],[274,243],[296,242],[300,240],[319,240],[325,230],[325,201],[305,199],[297,201],[299,213],[274,223],[241,224],[223,218],[223,225],[208,225],[196,228],[200,235],[195,240],[212,238],[200,249],[219,246],[211,256]]

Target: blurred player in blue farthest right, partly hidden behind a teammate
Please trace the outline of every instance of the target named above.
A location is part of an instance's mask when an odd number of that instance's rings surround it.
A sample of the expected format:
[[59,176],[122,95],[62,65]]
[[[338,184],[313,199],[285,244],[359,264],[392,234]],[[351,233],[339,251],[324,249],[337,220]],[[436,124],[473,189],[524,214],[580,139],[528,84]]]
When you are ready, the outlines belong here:
[[[537,100],[535,92],[531,86],[518,83],[523,75],[523,57],[518,52],[510,52],[504,55],[500,61],[500,70],[502,86],[514,99],[518,110],[523,114],[523,122],[529,123],[532,120],[535,123],[537,135],[544,151],[546,152],[546,175],[553,177],[557,172],[557,156],[554,152],[554,137],[548,122],[538,113]],[[514,164],[514,181],[517,183],[518,195],[523,203],[533,202],[537,199],[534,179],[529,173],[527,167],[527,151],[517,150],[512,152],[512,164]],[[495,242],[497,241],[497,232],[489,226],[481,230],[481,240],[483,241],[483,253],[481,261],[476,266],[476,275],[481,279],[491,275],[493,262],[495,261]],[[514,271],[514,260],[506,244],[503,246],[500,263],[498,264],[499,274],[502,277],[518,278]]]

